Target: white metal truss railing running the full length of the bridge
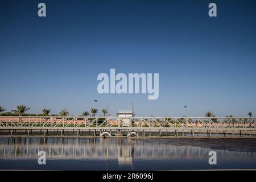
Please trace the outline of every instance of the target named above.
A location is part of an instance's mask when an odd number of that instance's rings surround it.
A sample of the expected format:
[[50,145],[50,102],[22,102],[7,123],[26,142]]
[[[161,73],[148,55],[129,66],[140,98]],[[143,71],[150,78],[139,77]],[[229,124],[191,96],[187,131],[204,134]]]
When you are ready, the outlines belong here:
[[0,129],[167,128],[256,129],[245,117],[0,117]]

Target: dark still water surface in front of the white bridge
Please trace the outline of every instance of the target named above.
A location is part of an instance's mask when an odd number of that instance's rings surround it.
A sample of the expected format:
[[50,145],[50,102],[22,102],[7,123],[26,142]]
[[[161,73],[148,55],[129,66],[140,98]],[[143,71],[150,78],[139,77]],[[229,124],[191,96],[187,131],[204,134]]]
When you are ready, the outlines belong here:
[[[217,165],[209,165],[209,151]],[[46,165],[38,164],[46,152]],[[255,169],[255,139],[0,137],[0,169]]]

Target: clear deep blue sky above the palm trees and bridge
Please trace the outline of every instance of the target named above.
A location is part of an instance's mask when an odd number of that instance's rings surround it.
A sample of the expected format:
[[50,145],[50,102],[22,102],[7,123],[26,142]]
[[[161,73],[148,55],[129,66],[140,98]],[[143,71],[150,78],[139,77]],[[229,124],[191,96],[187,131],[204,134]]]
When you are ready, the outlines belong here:
[[[47,17],[38,17],[38,3]],[[210,2],[217,18],[208,16]],[[81,114],[256,114],[256,1],[0,2],[0,105]],[[98,94],[97,75],[159,73],[159,98]]]

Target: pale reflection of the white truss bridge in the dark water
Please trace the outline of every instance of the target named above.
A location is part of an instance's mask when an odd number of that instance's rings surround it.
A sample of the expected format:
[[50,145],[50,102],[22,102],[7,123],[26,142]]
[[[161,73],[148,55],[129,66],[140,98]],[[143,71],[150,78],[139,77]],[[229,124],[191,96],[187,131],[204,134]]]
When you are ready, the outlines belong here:
[[[46,152],[47,160],[103,160],[105,161],[105,169],[107,170],[109,169],[109,165],[112,165],[113,160],[117,160],[119,167],[128,165],[131,169],[134,169],[134,163],[139,161],[150,161],[169,165],[177,164],[183,160],[192,160],[208,165],[210,148],[187,145],[176,146],[166,144],[163,140],[157,139],[151,142],[148,141],[143,139],[111,138],[2,137],[0,138],[0,167],[1,160],[3,159],[37,160],[38,151],[42,150]],[[217,152],[218,162],[220,163],[222,160],[225,160],[225,162],[242,161],[245,164],[250,163],[252,165],[250,167],[256,168],[256,152],[215,151]],[[242,166],[242,168],[245,167],[246,165]],[[165,166],[160,169],[168,168],[173,167]]]

